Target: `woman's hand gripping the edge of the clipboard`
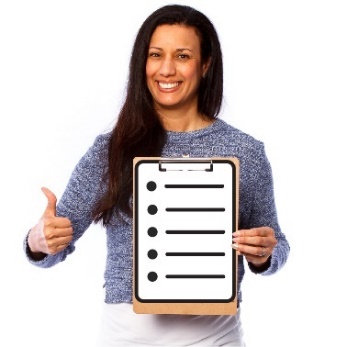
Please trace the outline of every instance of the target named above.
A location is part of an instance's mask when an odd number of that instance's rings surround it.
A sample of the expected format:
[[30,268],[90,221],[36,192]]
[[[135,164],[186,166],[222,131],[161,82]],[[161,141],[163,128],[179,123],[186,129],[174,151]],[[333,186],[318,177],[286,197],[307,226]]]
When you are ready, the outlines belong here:
[[232,247],[255,266],[264,264],[276,245],[275,232],[269,227],[237,230],[233,233]]

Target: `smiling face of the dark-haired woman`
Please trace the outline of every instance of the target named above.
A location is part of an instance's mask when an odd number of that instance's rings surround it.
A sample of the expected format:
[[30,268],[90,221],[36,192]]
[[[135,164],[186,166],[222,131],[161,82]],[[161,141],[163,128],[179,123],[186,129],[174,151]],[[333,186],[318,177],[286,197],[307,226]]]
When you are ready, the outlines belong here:
[[155,29],[149,44],[146,78],[159,112],[197,108],[198,87],[206,69],[194,28],[161,25]]

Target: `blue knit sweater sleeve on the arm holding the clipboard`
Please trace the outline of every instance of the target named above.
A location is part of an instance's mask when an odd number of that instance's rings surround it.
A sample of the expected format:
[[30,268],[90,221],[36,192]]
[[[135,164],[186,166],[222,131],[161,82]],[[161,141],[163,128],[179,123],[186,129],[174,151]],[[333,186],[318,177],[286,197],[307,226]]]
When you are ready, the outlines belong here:
[[284,233],[282,233],[278,223],[272,169],[266,156],[264,146],[260,148],[259,156],[256,160],[256,173],[254,184],[254,200],[252,202],[249,228],[268,226],[274,229],[277,245],[273,250],[267,266],[259,269],[252,264],[249,268],[254,273],[271,275],[280,270],[286,263],[290,247]]

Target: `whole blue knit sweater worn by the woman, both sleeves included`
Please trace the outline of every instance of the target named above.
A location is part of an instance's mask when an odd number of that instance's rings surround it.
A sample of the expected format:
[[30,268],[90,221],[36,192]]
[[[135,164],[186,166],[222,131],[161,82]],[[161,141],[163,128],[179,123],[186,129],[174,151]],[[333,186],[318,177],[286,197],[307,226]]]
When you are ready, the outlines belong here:
[[[262,275],[278,271],[286,262],[289,244],[281,232],[274,201],[273,180],[269,161],[262,142],[217,119],[207,128],[191,132],[168,132],[162,157],[237,157],[240,160],[239,229],[269,226],[278,241],[270,264]],[[75,250],[76,241],[92,223],[91,211],[106,191],[102,175],[107,167],[110,133],[99,135],[94,144],[76,165],[65,192],[57,205],[57,215],[71,220],[73,241],[62,252],[47,255],[40,261],[30,258],[27,239],[24,247],[28,260],[47,268],[64,261]],[[107,260],[104,273],[105,302],[132,302],[132,220],[114,216],[106,228]],[[238,300],[241,301],[241,282],[244,259],[238,259]],[[251,271],[256,272],[254,267]]]

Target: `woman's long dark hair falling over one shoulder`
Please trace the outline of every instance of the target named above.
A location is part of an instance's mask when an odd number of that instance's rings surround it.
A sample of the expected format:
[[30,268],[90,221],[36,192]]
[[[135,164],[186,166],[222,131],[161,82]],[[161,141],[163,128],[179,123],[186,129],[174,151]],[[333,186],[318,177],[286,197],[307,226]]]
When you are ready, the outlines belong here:
[[154,30],[164,24],[193,27],[201,42],[202,63],[209,61],[201,79],[198,111],[217,118],[223,99],[223,61],[220,42],[212,22],[190,6],[167,5],[153,12],[140,27],[132,49],[126,98],[109,143],[108,188],[93,211],[94,222],[108,224],[114,212],[131,215],[133,158],[160,156],[166,132],[153,106],[146,84],[148,47]]

